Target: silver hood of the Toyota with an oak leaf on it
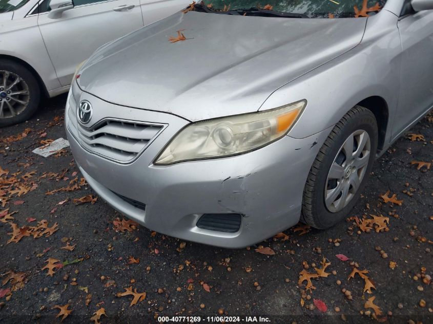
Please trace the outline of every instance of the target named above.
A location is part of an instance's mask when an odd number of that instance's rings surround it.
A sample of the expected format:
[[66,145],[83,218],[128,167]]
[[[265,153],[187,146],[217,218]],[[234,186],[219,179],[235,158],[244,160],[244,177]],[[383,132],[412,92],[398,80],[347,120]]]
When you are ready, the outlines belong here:
[[[97,50],[78,82],[106,101],[191,121],[255,112],[282,85],[359,44],[365,23],[179,12]],[[178,30],[187,40],[170,42]]]

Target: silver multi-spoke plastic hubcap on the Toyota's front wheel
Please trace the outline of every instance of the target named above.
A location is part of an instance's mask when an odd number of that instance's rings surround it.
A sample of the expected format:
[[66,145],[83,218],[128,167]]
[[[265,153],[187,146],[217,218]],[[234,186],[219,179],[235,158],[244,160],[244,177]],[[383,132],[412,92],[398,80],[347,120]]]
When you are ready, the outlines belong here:
[[370,149],[370,137],[362,129],[341,145],[325,183],[325,205],[329,211],[340,211],[355,197],[367,170]]

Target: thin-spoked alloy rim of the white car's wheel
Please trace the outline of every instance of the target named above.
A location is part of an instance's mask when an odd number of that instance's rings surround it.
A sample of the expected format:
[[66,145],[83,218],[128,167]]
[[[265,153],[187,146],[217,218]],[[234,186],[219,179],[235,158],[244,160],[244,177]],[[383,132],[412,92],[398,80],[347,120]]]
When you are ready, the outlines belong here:
[[0,118],[11,118],[26,110],[29,86],[17,74],[0,70]]

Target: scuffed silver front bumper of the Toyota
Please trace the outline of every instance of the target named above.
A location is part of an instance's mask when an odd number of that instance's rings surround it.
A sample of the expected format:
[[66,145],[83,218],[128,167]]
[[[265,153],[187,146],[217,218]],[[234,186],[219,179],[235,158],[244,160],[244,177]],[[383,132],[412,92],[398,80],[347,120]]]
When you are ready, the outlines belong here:
[[[304,139],[285,136],[239,156],[159,166],[153,160],[188,121],[117,106],[87,93],[81,99],[92,102],[95,120],[110,116],[168,124],[132,163],[121,164],[85,149],[71,132],[66,114],[75,161],[97,194],[151,230],[225,248],[260,242],[299,221],[306,177],[330,131]],[[119,195],[145,204],[145,210]],[[204,213],[239,213],[240,229],[226,233],[199,228],[196,223]]]

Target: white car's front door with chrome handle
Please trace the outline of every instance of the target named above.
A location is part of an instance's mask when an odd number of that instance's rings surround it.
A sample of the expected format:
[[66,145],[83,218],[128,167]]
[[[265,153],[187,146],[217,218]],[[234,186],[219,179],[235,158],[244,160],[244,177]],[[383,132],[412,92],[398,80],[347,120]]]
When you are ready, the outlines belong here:
[[38,25],[61,85],[98,47],[143,26],[139,0],[73,0],[58,19],[39,13]]

